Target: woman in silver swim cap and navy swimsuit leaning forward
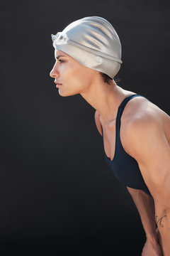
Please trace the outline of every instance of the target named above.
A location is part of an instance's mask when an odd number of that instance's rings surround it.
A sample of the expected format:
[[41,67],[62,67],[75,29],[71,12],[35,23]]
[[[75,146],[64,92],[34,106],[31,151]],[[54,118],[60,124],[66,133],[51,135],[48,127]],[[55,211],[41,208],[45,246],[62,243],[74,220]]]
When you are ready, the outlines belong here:
[[106,163],[140,213],[147,238],[142,256],[169,256],[169,115],[116,84],[121,45],[106,19],[81,18],[52,35],[52,41],[56,62],[50,76],[61,96],[79,93],[96,110]]

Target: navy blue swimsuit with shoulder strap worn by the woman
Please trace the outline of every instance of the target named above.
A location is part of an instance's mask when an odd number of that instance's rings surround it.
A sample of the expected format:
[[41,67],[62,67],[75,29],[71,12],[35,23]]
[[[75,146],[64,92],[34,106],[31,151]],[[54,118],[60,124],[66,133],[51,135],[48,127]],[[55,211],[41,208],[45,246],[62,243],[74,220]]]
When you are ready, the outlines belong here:
[[[120,124],[121,124],[120,118],[123,114],[123,110],[125,108],[125,105],[128,103],[128,101],[131,100],[133,97],[137,97],[137,96],[142,96],[142,95],[135,94],[135,95],[130,95],[128,97],[125,97],[123,102],[118,107],[118,113],[115,120],[115,155],[113,157],[113,160],[111,161],[111,159],[109,159],[108,156],[106,155],[106,152],[104,150],[104,143],[103,143],[103,151],[104,151],[106,163],[108,164],[108,167],[111,169],[111,171],[113,172],[115,177],[118,179],[118,181],[120,181],[125,186],[128,186],[130,188],[140,189],[152,197],[142,177],[137,161],[128,153],[126,153],[120,141]],[[103,134],[103,129],[102,129],[102,134]]]

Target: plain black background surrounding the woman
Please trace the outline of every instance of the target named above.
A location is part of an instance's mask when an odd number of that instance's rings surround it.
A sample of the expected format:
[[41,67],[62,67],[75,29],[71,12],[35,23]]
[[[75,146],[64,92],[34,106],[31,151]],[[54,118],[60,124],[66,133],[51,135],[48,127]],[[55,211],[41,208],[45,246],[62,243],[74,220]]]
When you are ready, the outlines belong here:
[[1,1],[2,255],[141,255],[145,232],[106,166],[95,110],[61,97],[51,33],[85,16],[117,31],[117,78],[169,114],[169,1]]

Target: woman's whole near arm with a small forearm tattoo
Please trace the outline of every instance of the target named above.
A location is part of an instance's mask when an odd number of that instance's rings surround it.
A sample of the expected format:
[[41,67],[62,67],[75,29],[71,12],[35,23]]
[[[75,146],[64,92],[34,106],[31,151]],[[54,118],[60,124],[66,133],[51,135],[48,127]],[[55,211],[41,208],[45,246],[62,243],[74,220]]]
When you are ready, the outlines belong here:
[[137,160],[154,198],[164,256],[170,256],[170,147],[166,134],[159,119],[142,117],[128,127],[126,137],[128,152]]

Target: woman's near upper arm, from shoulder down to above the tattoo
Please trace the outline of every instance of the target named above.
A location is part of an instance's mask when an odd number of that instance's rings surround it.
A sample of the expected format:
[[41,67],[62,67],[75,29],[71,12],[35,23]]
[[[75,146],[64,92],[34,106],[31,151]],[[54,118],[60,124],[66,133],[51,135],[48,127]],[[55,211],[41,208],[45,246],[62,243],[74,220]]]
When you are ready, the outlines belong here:
[[155,200],[170,196],[170,147],[159,120],[146,117],[126,130],[128,151]]

